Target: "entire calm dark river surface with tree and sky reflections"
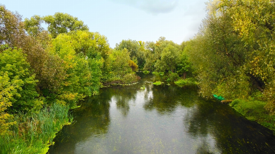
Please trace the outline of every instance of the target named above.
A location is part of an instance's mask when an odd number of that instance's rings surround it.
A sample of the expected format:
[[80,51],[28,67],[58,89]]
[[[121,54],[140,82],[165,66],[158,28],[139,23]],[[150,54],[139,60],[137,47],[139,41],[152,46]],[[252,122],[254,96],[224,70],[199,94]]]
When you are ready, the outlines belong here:
[[157,80],[101,88],[74,109],[75,123],[57,133],[48,153],[275,153],[269,129],[203,100],[194,85]]

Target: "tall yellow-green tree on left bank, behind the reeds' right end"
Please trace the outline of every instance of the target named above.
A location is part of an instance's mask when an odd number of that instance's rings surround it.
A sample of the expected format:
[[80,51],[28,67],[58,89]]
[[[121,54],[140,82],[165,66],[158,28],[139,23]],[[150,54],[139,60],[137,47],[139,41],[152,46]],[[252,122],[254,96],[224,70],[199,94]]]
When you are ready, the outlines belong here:
[[101,39],[105,40],[105,37],[98,33],[76,31],[60,34],[52,40],[48,50],[63,60],[62,68],[66,74],[57,93],[61,103],[74,106],[84,96],[98,93],[103,56],[109,52],[109,44]]

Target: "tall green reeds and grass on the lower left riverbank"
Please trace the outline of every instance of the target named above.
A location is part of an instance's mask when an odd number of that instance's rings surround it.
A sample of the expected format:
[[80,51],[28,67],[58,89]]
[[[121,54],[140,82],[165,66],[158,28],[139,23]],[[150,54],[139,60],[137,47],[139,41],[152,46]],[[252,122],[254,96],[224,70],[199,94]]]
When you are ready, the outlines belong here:
[[53,143],[55,133],[72,122],[68,110],[68,107],[52,104],[36,113],[15,115],[17,123],[11,126],[11,133],[0,136],[0,153],[41,153],[47,144]]

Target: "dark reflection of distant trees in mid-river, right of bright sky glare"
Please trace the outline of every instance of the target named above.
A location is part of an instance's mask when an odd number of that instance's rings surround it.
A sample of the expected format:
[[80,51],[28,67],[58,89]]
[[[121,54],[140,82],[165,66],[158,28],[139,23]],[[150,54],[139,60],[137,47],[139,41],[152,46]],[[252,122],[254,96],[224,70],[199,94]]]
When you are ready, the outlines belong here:
[[[184,107],[193,106],[197,99],[197,88],[195,85],[180,86],[152,86],[146,85],[148,94],[145,95],[145,110],[156,109],[160,114],[172,113],[178,105]],[[150,93],[152,96],[150,97]]]

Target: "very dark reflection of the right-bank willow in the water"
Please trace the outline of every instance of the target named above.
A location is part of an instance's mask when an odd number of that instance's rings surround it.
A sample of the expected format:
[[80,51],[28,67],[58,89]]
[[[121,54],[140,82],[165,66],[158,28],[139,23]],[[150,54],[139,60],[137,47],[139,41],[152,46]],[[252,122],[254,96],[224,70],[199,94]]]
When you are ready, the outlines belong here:
[[[275,139],[271,131],[258,123],[244,119],[226,105],[201,100],[189,110],[190,114],[184,119],[188,134],[195,138],[213,136],[216,149],[221,153],[275,151]],[[213,149],[207,144],[202,143],[197,153],[207,153],[207,149]]]

